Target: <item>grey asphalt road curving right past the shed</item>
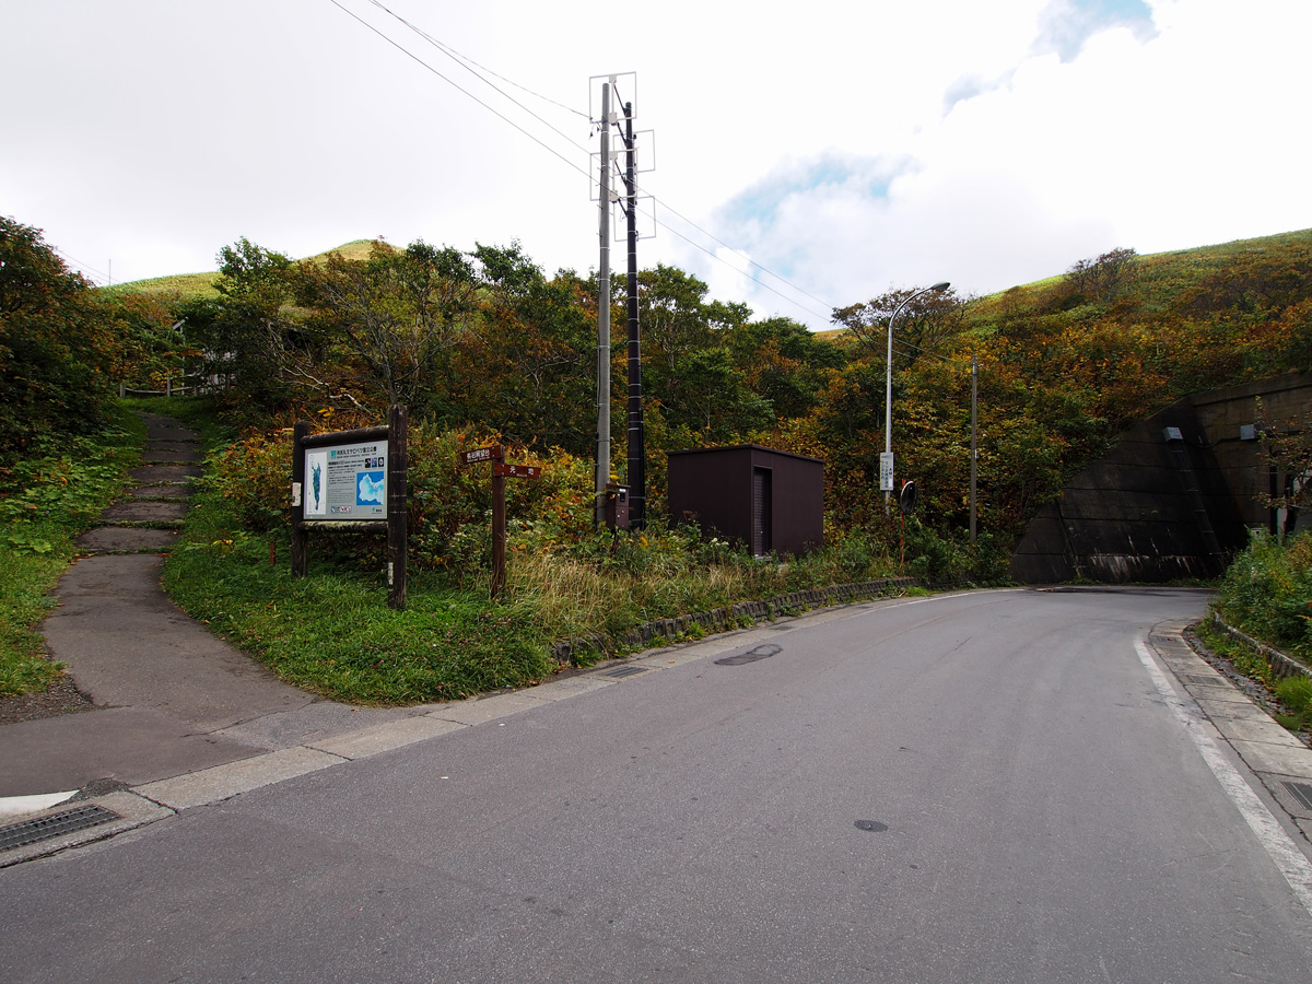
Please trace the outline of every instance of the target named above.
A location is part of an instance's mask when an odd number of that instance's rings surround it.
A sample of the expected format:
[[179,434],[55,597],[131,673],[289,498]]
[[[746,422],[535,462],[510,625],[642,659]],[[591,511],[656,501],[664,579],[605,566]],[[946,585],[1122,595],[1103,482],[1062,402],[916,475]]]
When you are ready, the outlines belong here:
[[1203,606],[983,592],[674,651],[3,870],[0,979],[1312,981],[1135,649]]

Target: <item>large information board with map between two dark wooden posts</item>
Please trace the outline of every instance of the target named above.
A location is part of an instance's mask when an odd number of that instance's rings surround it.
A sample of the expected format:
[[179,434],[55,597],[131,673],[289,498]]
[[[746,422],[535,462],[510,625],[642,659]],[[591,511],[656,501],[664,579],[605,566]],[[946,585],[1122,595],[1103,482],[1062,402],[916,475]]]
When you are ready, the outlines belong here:
[[387,426],[311,434],[298,421],[291,453],[291,573],[310,564],[310,530],[387,533],[387,607],[405,609],[407,415]]

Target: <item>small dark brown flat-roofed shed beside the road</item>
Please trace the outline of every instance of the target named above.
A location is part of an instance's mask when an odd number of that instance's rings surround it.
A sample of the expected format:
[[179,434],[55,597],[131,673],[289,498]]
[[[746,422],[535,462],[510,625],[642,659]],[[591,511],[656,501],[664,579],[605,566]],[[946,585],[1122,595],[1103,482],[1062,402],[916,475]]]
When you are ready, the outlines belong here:
[[669,513],[753,556],[824,546],[824,462],[760,445],[669,453]]

